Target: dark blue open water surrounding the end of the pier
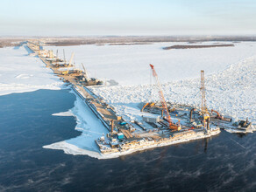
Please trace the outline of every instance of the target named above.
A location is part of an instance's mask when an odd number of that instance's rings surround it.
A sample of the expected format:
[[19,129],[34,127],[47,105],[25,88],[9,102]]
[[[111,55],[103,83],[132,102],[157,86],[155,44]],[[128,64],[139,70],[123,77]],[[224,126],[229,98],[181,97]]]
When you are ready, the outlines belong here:
[[112,160],[42,146],[81,134],[68,91],[0,97],[0,191],[256,191],[256,134],[222,132]]

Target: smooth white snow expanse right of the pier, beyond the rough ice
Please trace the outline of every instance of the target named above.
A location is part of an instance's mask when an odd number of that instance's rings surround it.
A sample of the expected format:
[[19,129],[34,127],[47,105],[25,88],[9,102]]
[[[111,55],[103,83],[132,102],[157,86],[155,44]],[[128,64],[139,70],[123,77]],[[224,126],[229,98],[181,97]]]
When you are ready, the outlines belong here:
[[[232,42],[203,42],[196,45],[233,44]],[[171,45],[191,45],[187,42],[155,43],[152,45],[75,45],[49,46],[46,49],[64,49],[67,60],[75,52],[76,67],[85,65],[89,77],[114,79],[122,86],[150,84],[149,64],[155,65],[161,83],[221,72],[227,66],[256,54],[255,42],[234,43],[234,47],[163,50]],[[195,45],[195,44],[192,44]]]

